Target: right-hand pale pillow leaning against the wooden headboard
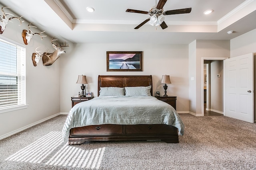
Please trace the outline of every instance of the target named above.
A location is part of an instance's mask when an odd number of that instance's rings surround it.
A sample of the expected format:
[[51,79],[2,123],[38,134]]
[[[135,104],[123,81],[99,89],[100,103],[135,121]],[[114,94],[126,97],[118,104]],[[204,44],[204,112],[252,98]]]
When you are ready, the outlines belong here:
[[125,87],[125,96],[151,96],[151,86]]

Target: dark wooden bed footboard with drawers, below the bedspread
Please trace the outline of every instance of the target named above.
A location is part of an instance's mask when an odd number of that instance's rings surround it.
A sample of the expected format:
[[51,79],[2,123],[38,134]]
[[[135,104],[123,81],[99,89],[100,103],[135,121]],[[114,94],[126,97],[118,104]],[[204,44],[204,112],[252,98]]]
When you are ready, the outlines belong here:
[[80,145],[86,141],[134,141],[162,140],[179,143],[178,129],[171,125],[90,125],[70,129],[68,145]]

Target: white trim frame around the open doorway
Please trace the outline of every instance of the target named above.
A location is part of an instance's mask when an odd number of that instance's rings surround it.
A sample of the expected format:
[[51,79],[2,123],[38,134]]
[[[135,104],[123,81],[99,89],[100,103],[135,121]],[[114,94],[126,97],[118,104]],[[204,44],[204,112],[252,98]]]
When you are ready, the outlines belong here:
[[[229,57],[202,57],[202,68],[201,68],[201,96],[202,96],[202,102],[201,102],[201,109],[202,109],[202,116],[204,116],[204,60],[226,60]],[[225,62],[223,62],[223,70],[225,69]],[[223,72],[223,80],[225,80],[225,72]],[[223,115],[226,115],[225,112],[225,81],[223,82]]]

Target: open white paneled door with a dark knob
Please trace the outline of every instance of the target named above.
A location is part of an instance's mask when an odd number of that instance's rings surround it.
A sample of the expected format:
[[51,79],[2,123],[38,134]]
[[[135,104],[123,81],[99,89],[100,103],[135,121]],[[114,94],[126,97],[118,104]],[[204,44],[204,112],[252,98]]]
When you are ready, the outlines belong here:
[[253,53],[225,60],[226,116],[254,122]]

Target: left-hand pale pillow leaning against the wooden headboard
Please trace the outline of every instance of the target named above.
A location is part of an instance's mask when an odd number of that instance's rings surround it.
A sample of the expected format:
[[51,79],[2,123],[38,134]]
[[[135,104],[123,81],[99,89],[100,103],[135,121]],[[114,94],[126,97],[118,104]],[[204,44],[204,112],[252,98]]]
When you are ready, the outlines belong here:
[[101,96],[124,96],[124,87],[100,87]]

